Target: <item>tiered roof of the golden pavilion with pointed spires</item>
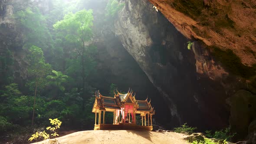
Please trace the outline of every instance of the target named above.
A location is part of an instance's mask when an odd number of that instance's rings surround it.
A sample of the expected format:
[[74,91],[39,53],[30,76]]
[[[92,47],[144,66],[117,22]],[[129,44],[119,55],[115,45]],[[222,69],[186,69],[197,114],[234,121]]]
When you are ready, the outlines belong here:
[[144,101],[136,100],[133,91],[129,91],[126,94],[121,94],[117,91],[114,98],[103,96],[99,91],[95,92],[95,102],[92,108],[92,112],[101,111],[113,111],[114,109],[121,109],[126,103],[133,103],[137,113],[149,112],[154,114],[154,108],[151,106],[151,101],[148,102],[148,98]]

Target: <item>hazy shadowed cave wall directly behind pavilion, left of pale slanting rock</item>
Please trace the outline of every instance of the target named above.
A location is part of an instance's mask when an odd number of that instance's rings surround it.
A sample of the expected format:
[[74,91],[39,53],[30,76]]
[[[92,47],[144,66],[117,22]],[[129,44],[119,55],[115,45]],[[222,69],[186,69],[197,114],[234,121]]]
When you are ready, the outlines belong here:
[[131,88],[136,98],[140,100],[151,99],[157,115],[153,117],[159,125],[169,122],[166,114],[169,113],[167,105],[163,105],[163,99],[157,88],[148,79],[148,76],[141,70],[135,59],[127,52],[120,39],[114,33],[114,21],[118,16],[105,18],[106,0],[90,0],[85,9],[92,9],[94,15],[94,37],[93,41],[97,46],[98,54],[97,72],[92,76],[91,84],[100,90],[102,95],[108,95],[111,83],[118,85],[119,91],[128,91]]

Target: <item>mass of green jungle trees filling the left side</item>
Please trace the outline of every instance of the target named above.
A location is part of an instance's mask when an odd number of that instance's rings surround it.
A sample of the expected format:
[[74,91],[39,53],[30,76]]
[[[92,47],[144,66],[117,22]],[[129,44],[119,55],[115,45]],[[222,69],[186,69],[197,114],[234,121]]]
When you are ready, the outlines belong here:
[[[26,3],[27,6],[31,6],[30,2]],[[97,48],[90,44],[93,36],[92,10],[80,9],[85,3],[87,2],[84,0],[68,2],[54,0],[49,1],[47,12],[33,6],[20,7],[15,13],[16,28],[22,33],[24,40],[22,44],[26,53],[22,56],[26,56],[24,59],[26,65],[23,69],[27,69],[28,77],[24,81],[15,79],[19,82],[21,91],[17,84],[12,84],[13,78],[19,77],[19,75],[13,77],[13,66],[15,66],[13,50],[16,51],[16,47],[20,46],[15,45],[13,47],[15,49],[2,50],[0,56],[1,134],[11,133],[13,137],[14,130],[20,136],[22,135],[20,131],[25,127],[25,133],[27,133],[27,129],[46,126],[46,119],[53,117],[65,121],[63,123],[65,128],[93,127],[94,114],[91,108],[94,97],[91,95],[95,89],[90,82],[95,72],[94,57]],[[81,11],[77,12],[78,10]],[[73,13],[68,13],[69,11]],[[67,14],[63,19],[65,13]],[[55,71],[52,71],[51,67]],[[83,72],[82,67],[84,67]],[[82,87],[82,77],[85,78],[84,87]],[[26,83],[26,88],[23,87],[23,83]],[[33,105],[35,124],[30,127]],[[106,114],[105,117],[106,121],[108,118],[109,120],[113,118],[111,113]],[[44,132],[37,134],[38,137],[43,135],[46,136]]]

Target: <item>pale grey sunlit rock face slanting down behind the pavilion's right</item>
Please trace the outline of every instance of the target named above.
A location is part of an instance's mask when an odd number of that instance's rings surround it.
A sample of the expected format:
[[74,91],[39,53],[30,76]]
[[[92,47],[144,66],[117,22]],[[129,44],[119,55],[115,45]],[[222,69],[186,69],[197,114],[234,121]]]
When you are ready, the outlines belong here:
[[[122,12],[119,14],[118,21],[115,23],[114,31],[115,34],[120,38],[121,43],[125,49],[131,54],[131,56],[134,57],[134,59],[140,65],[141,69],[143,69],[143,71],[148,75],[150,81],[158,88],[162,95],[164,95],[165,100],[170,102],[168,105],[172,117],[176,117],[179,119],[179,121],[181,121],[181,118],[177,113],[177,107],[173,100],[162,90],[160,85],[156,85],[154,82],[154,79],[160,78],[162,76],[159,73],[161,72],[161,69],[167,68],[174,73],[177,72],[177,69],[172,68],[172,65],[166,63],[166,59],[168,58],[165,55],[167,52],[165,46],[169,46],[170,40],[172,39],[161,39],[161,37],[164,38],[166,33],[162,33],[162,36],[158,39],[153,39],[153,37],[151,37],[154,36],[154,34],[156,34],[154,38],[159,36],[161,33],[159,28],[161,26],[157,26],[158,16],[157,13],[154,13],[154,11],[151,11],[152,13],[144,16],[144,14],[146,14],[148,11],[148,6],[149,5],[147,1],[126,1],[125,9],[122,10]],[[151,23],[146,25],[148,21],[151,21]],[[155,27],[150,29],[148,26],[152,25]],[[164,28],[162,28],[162,31],[163,30]],[[157,42],[154,42],[153,40],[156,40]],[[162,54],[163,57],[160,56],[160,54]],[[179,55],[179,52],[174,53],[174,55],[175,54],[180,56],[182,59],[182,56],[181,54]],[[157,78],[153,78],[153,75],[155,75]],[[172,77],[172,75],[166,76]],[[167,77],[162,77],[161,79],[166,79],[166,82],[168,82]]]

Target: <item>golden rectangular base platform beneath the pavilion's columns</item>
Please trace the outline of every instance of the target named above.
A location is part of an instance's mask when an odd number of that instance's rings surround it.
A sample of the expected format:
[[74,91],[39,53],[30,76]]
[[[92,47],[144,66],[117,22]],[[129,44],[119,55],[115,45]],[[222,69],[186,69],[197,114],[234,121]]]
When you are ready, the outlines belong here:
[[135,124],[95,124],[94,130],[136,130],[152,131],[152,126],[141,126]]

